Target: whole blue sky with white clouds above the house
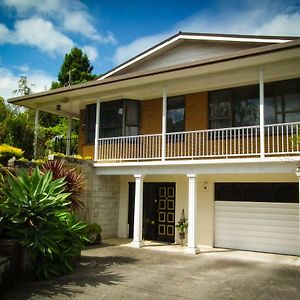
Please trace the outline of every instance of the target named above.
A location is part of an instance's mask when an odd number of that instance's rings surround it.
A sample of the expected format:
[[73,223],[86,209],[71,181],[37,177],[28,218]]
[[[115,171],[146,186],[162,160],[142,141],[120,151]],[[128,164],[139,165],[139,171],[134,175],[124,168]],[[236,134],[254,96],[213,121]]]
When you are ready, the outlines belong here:
[[103,74],[178,31],[300,36],[300,0],[0,0],[0,96],[49,89],[72,47]]

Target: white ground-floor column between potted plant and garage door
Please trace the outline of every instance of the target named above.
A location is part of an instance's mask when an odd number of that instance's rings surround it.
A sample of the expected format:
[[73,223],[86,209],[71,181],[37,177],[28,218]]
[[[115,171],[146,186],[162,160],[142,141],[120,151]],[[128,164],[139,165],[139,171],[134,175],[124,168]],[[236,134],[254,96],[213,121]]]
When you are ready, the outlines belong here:
[[188,203],[188,246],[186,252],[190,254],[199,253],[197,248],[197,175],[187,174],[189,179],[189,203]]

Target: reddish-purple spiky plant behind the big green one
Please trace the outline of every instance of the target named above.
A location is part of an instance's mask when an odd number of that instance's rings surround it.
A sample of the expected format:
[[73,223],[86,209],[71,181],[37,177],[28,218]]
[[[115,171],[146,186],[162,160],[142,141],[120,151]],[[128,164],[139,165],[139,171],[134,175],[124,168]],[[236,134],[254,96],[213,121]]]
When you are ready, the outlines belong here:
[[65,192],[69,193],[70,206],[72,210],[84,208],[84,203],[80,200],[80,194],[84,186],[84,177],[76,168],[70,168],[64,165],[63,160],[49,160],[42,164],[41,171],[46,173],[51,171],[53,179],[64,178],[66,185]]

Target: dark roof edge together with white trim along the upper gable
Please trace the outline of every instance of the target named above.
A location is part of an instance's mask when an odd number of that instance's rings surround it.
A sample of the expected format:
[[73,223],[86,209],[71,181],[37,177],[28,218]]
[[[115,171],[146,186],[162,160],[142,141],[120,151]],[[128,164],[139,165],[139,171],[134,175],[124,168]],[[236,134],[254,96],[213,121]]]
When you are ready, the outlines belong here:
[[238,34],[211,34],[211,33],[192,33],[192,32],[181,32],[169,37],[168,39],[154,45],[153,47],[147,49],[146,51],[134,56],[133,58],[127,60],[126,62],[120,64],[119,66],[113,68],[107,73],[103,74],[97,80],[103,80],[110,77],[127,67],[132,66],[142,60],[145,60],[150,55],[158,54],[159,52],[165,50],[167,47],[173,47],[178,42],[183,40],[197,40],[197,41],[212,41],[212,42],[231,42],[231,43],[247,43],[247,44],[280,44],[290,42],[292,40],[298,39],[299,37],[287,37],[287,36],[258,36],[258,35],[238,35]]

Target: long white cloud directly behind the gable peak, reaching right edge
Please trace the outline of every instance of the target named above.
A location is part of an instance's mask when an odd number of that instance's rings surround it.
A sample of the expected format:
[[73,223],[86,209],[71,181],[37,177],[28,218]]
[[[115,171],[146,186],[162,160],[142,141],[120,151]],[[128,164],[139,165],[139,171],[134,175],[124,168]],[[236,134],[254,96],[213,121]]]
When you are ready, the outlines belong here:
[[[117,48],[114,62],[120,64],[179,31],[233,34],[300,35],[300,13],[290,4],[249,1],[246,6],[224,6],[202,11],[159,34],[144,36]],[[226,2],[227,5],[227,2]]]

